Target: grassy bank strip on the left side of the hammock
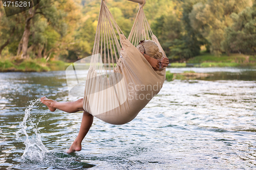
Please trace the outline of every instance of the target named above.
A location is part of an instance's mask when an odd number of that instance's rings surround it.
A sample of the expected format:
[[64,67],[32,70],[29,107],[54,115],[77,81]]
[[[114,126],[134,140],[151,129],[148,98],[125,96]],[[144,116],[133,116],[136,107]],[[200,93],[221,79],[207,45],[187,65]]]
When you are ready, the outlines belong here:
[[28,60],[2,60],[0,61],[0,71],[50,71],[60,70],[60,67],[65,67],[63,61],[48,61],[45,59],[28,59]]

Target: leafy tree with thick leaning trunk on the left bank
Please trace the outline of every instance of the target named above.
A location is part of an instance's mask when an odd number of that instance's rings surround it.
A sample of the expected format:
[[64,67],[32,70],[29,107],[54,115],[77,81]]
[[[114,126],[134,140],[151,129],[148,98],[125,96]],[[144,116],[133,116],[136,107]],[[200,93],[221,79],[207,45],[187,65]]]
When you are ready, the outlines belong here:
[[[47,44],[49,37],[47,38],[47,34],[44,35],[44,33],[51,30],[46,29],[47,27],[54,28],[52,35],[54,35],[54,32],[56,32],[61,38],[69,34],[68,25],[74,20],[78,20],[74,19],[72,16],[77,16],[75,13],[76,7],[73,4],[75,4],[75,1],[72,0],[45,0],[40,1],[40,3],[34,8],[23,12],[22,15],[25,19],[25,27],[23,36],[18,44],[17,56],[20,56],[21,58],[28,58],[29,55],[27,52],[29,45],[31,45],[29,50],[37,51],[38,57],[41,57],[42,50],[45,50],[46,52],[46,47],[49,47],[49,43]],[[58,36],[54,37],[58,38]],[[54,47],[51,48],[51,51],[48,51],[47,53],[50,54],[53,51]]]

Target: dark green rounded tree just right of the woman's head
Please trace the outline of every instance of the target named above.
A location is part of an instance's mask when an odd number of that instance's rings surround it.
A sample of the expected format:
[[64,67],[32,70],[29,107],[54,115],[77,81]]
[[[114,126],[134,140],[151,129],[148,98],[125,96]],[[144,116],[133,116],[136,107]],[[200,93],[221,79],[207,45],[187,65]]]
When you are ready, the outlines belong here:
[[197,56],[200,54],[200,46],[207,43],[199,31],[191,27],[189,13],[196,2],[198,1],[184,1],[181,16],[176,13],[162,15],[152,24],[154,34],[171,60],[184,61]]

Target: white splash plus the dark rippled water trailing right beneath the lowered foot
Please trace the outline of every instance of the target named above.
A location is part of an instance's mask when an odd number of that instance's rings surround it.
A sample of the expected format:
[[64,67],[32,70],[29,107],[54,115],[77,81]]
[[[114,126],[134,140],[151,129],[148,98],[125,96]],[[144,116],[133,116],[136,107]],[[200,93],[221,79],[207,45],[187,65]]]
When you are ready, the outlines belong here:
[[[25,109],[25,115],[23,122],[19,124],[19,130],[16,132],[16,139],[22,138],[25,135],[24,143],[26,145],[25,151],[22,155],[22,160],[26,163],[32,163],[39,166],[49,166],[59,169],[70,169],[70,168],[88,168],[95,165],[82,162],[82,157],[77,155],[69,155],[63,152],[49,151],[41,141],[41,136],[37,126],[40,119],[45,115],[39,117],[36,121],[32,121],[34,116],[31,116],[31,111],[36,108],[40,103],[39,99],[29,101],[29,106]],[[48,110],[49,112],[49,110]],[[47,114],[47,113],[46,113]],[[35,123],[36,122],[36,123]],[[31,133],[33,135],[29,135]]]

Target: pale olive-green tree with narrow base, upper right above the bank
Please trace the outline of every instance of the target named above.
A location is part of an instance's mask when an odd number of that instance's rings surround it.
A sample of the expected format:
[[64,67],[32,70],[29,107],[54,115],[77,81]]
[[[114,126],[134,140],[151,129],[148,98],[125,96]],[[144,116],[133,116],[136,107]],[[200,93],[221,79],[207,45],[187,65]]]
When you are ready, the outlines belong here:
[[231,13],[239,13],[252,4],[251,0],[207,0],[193,6],[189,14],[191,26],[198,30],[210,43],[210,52],[220,55],[223,50],[224,30],[231,26]]

